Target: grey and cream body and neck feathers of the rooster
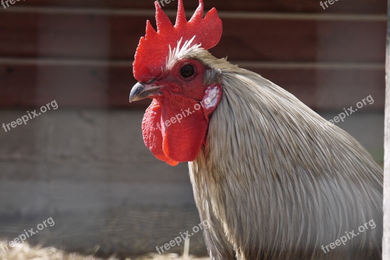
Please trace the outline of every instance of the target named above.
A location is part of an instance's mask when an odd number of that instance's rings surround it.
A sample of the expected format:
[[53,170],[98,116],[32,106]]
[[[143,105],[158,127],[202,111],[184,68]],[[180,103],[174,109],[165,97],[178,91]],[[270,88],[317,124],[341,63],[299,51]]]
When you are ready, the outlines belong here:
[[[207,144],[189,163],[211,258],[381,259],[383,171],[366,150],[260,75],[202,49],[186,57],[223,88]],[[370,220],[375,228],[321,249]]]

